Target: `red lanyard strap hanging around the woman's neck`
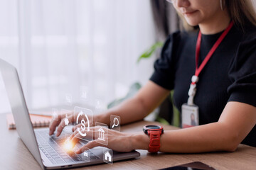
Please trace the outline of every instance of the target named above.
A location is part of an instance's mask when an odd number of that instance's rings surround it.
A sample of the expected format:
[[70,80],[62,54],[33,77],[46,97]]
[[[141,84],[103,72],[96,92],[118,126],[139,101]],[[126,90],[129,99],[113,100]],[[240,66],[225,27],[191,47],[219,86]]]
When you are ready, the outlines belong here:
[[[210,49],[210,52],[208,52],[208,55],[206,55],[206,58],[203,60],[203,62],[200,65],[200,67],[198,67],[198,60],[199,60],[199,54],[200,54],[200,49],[201,49],[202,34],[201,34],[201,31],[199,31],[198,39],[197,39],[197,42],[196,42],[196,72],[195,72],[195,76],[196,77],[198,77],[198,75],[201,73],[203,67],[206,66],[208,60],[210,60],[210,57],[212,57],[213,53],[215,52],[217,47],[220,45],[220,43],[223,41],[225,36],[228,34],[230,29],[233,27],[233,25],[234,25],[234,23],[233,23],[233,21],[231,21],[230,25],[228,26],[228,28],[225,29],[225,31],[220,35],[220,38],[218,38],[218,40],[215,42],[213,47]],[[196,84],[196,82],[192,81],[192,84]]]

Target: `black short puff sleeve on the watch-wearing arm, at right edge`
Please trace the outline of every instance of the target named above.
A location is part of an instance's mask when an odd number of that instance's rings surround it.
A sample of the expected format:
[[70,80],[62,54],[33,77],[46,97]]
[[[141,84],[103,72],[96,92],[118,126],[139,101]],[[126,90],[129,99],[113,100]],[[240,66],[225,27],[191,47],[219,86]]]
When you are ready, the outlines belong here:
[[256,107],[256,38],[241,42],[230,67],[232,84],[228,101],[238,101]]

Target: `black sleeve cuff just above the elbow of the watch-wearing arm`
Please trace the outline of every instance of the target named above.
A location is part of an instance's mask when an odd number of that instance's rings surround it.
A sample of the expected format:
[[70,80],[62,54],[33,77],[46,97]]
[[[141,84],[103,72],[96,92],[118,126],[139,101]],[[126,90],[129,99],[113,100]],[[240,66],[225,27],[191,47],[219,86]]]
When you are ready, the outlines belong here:
[[234,91],[228,101],[238,101],[256,107],[256,90],[240,89],[239,91]]

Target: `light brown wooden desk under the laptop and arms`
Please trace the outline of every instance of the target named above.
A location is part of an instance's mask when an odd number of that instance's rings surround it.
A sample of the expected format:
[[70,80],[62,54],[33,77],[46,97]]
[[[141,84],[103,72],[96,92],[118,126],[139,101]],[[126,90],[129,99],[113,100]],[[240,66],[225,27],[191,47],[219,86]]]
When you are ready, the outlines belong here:
[[[148,122],[138,122],[122,126],[124,132],[141,131]],[[155,123],[159,124],[159,123]],[[6,114],[0,115],[0,169],[40,169],[32,154],[23,145],[16,130],[8,130]],[[165,130],[176,128],[164,125]],[[161,169],[189,162],[203,162],[215,169],[256,169],[256,148],[240,145],[235,152],[213,152],[206,154],[149,154],[138,150],[141,157],[114,164],[84,166],[77,169]]]

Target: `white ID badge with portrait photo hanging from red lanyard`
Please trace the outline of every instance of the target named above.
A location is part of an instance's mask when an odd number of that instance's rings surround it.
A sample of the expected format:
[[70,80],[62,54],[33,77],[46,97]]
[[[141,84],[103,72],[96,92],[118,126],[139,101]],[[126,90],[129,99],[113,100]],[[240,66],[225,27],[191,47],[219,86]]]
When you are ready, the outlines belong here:
[[184,103],[181,107],[182,128],[190,128],[199,125],[199,108],[196,105],[189,106]]

